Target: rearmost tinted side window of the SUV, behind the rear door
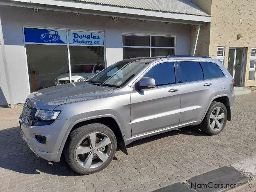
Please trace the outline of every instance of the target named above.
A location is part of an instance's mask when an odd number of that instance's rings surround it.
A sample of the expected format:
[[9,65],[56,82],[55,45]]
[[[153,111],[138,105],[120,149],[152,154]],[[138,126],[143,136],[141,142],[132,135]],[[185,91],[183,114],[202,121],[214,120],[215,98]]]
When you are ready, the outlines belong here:
[[224,74],[219,66],[213,62],[200,62],[205,79],[222,78]]

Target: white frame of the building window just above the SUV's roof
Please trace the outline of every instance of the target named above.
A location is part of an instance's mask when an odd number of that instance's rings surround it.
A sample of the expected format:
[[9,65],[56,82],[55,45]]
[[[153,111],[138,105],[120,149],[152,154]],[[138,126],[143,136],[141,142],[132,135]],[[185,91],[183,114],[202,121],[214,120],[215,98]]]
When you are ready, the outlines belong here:
[[[176,40],[177,39],[176,36],[172,36],[172,35],[159,35],[159,34],[133,34],[133,33],[123,33],[122,37],[123,36],[149,36],[149,46],[123,46],[123,42],[122,42],[122,48],[149,48],[149,57],[151,57],[151,48],[173,49],[174,50],[174,55],[176,55],[176,41],[177,41]],[[151,46],[151,38],[152,38],[152,36],[174,37],[174,47],[155,47],[155,46]]]

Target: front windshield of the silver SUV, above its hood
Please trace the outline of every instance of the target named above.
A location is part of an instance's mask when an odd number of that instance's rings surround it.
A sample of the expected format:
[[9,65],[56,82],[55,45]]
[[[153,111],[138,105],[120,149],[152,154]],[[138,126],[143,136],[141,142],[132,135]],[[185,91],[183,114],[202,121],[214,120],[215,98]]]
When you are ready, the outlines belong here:
[[108,85],[112,87],[122,87],[133,78],[148,62],[123,60],[117,62],[104,71],[95,75],[89,82]]

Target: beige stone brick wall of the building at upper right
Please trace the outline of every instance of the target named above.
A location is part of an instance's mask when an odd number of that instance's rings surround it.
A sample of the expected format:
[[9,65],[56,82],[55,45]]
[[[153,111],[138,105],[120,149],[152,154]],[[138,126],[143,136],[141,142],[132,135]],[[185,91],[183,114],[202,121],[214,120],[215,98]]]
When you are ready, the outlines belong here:
[[[225,47],[225,63],[228,65],[229,47],[243,47],[245,53],[244,86],[256,86],[256,81],[249,81],[249,62],[251,48],[256,48],[256,0],[192,0],[206,12],[210,12],[212,22],[210,29],[201,27],[200,40],[197,44],[196,55],[217,57],[217,47]],[[208,4],[208,6],[207,6]],[[209,5],[211,6],[209,10]],[[194,27],[191,27],[193,33]],[[209,32],[210,30],[210,32]],[[241,39],[237,39],[238,34]],[[200,37],[201,36],[201,37]],[[207,47],[209,38],[209,47]],[[209,51],[207,51],[209,49]]]

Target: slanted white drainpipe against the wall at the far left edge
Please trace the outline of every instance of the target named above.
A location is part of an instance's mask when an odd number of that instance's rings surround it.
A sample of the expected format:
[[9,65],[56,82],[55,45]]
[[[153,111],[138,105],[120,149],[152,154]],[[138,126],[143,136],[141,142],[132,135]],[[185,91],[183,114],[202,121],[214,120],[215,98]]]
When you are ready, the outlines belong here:
[[[1,15],[0,15],[0,43],[1,43],[2,58],[3,58],[3,62],[4,62],[4,69],[5,69],[5,78],[6,78],[7,89],[8,89],[7,93],[8,93],[9,103],[11,105],[11,109],[13,109],[14,108],[14,103],[12,101],[9,70],[8,70],[7,59],[6,59],[6,55],[5,55],[5,42],[4,42],[3,32],[2,32]],[[7,103],[7,104],[9,104],[9,103]]]

